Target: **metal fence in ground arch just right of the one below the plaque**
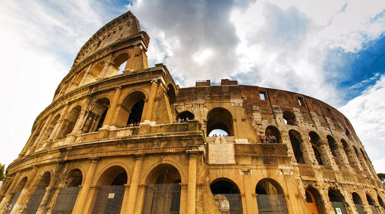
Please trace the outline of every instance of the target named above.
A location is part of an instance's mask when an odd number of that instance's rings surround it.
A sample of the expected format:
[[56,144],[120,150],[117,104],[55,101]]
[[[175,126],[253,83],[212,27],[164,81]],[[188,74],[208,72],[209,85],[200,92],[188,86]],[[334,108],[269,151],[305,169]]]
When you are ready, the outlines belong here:
[[285,196],[283,195],[257,195],[259,214],[288,214]]

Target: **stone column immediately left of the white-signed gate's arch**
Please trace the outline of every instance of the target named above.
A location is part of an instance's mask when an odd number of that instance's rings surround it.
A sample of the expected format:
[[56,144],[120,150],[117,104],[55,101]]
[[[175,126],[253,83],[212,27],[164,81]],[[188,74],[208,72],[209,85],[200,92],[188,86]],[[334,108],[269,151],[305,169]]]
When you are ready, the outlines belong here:
[[87,213],[87,210],[85,209],[84,204],[87,200],[88,192],[90,190],[90,185],[91,185],[92,179],[94,178],[95,170],[99,162],[98,157],[92,157],[90,159],[91,159],[91,164],[90,164],[90,167],[88,168],[87,174],[85,174],[82,191],[80,192],[80,195],[79,195],[79,202],[77,203],[77,207],[75,207],[74,211],[72,212],[74,214]]

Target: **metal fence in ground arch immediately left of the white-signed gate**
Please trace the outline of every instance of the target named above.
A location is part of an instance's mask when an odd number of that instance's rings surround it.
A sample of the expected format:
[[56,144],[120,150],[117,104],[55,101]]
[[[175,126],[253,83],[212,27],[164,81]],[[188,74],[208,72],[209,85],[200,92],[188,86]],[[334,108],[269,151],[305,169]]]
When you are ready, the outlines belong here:
[[71,214],[80,187],[64,187],[60,190],[52,214]]

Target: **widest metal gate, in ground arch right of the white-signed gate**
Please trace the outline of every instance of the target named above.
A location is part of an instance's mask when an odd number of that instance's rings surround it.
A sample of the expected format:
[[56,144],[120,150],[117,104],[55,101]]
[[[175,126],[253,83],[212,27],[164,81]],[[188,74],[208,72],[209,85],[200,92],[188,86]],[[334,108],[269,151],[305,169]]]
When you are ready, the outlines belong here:
[[179,214],[181,186],[150,184],[144,195],[142,214]]

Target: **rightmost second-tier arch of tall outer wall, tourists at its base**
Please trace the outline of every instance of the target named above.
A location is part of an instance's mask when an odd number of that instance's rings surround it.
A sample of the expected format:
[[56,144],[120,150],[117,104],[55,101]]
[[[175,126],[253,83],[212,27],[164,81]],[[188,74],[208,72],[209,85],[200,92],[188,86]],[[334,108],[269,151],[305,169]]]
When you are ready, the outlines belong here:
[[141,122],[145,99],[146,95],[141,91],[134,91],[128,94],[122,101],[116,125],[124,127]]

